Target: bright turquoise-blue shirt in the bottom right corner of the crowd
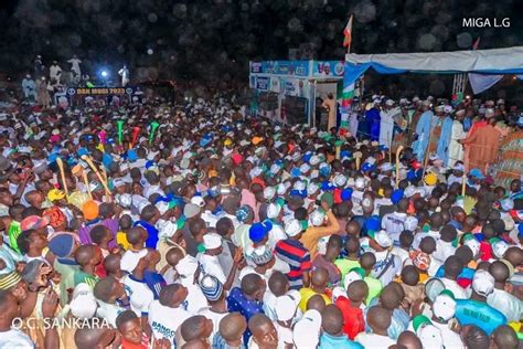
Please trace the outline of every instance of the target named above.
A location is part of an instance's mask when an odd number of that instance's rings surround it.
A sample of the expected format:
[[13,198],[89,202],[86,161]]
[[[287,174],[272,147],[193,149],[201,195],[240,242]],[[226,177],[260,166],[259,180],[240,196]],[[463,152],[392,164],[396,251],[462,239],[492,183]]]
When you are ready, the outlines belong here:
[[473,299],[456,299],[456,318],[459,325],[476,325],[488,336],[501,325],[506,325],[506,318],[487,303]]

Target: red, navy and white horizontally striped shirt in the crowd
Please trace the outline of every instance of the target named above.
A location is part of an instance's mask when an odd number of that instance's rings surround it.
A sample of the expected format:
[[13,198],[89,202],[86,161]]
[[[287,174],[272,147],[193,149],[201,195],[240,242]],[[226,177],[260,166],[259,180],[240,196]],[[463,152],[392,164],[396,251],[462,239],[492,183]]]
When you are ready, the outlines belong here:
[[303,287],[303,273],[310,271],[310,253],[298,240],[280,240],[276,244],[276,256],[289,264],[290,272],[287,274],[291,289]]

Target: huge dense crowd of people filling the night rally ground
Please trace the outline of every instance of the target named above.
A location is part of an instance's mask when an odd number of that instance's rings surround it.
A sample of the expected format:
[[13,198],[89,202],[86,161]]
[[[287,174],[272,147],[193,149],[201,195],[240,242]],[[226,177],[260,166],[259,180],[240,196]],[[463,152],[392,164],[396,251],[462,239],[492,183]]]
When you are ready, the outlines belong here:
[[224,98],[4,105],[0,347],[519,348],[523,191],[489,141],[523,117],[405,105],[349,131]]

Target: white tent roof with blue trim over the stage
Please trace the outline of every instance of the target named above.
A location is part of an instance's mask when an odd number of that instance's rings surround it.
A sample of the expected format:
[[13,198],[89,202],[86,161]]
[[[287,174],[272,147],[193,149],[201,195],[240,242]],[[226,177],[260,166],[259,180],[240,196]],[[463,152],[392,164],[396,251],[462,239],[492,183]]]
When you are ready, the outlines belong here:
[[345,63],[349,67],[351,65],[369,64],[385,74],[406,72],[523,74],[523,46],[427,53],[350,53],[345,55]]

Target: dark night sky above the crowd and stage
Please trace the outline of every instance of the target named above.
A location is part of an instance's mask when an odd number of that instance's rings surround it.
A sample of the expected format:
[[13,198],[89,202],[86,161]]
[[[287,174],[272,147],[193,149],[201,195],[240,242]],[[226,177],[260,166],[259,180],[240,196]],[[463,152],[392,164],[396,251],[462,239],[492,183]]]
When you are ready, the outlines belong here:
[[[350,12],[356,53],[469,50],[478,36],[480,49],[523,45],[521,0],[2,0],[0,70],[76,53],[84,68],[126,62],[143,80],[246,80],[249,60],[285,60],[289,49],[342,59]],[[511,28],[467,29],[463,17]]]

